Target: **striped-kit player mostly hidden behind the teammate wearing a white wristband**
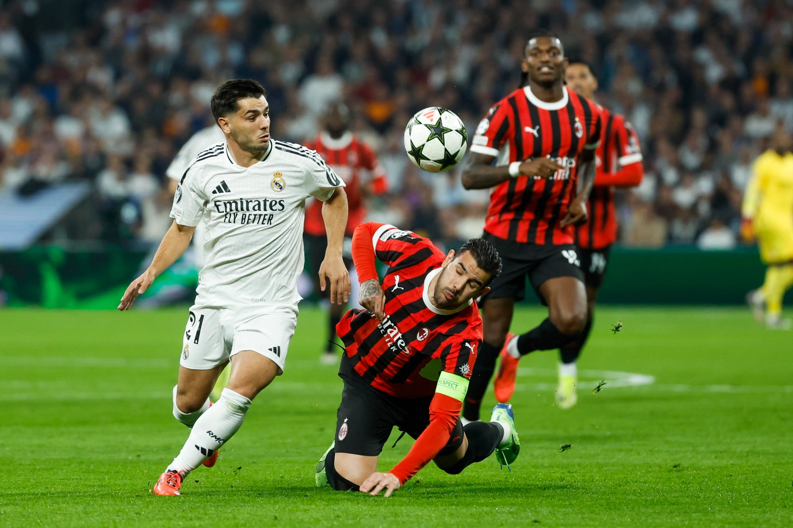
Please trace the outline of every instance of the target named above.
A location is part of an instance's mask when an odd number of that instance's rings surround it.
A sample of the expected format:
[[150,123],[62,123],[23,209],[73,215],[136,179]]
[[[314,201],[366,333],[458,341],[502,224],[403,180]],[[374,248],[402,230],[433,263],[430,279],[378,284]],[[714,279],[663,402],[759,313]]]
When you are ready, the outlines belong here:
[[[592,67],[573,61],[565,71],[565,83],[575,93],[592,99],[597,90],[597,78]],[[617,239],[617,215],[614,208],[615,187],[635,187],[642,183],[642,149],[638,135],[624,116],[600,107],[603,119],[603,140],[596,150],[597,172],[587,203],[588,222],[576,229],[576,245],[587,288],[587,324],[584,331],[565,344],[560,351],[559,384],[556,405],[570,408],[576,405],[578,374],[576,361],[592,330],[595,302],[600,284],[606,274],[611,245]]]

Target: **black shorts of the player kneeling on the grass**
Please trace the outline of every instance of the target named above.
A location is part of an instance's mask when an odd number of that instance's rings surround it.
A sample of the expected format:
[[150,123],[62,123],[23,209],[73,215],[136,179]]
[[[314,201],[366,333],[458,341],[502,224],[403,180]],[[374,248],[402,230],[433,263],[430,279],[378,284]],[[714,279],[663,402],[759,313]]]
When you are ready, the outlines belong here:
[[[357,374],[341,378],[344,390],[336,412],[336,453],[376,457],[393,427],[417,439],[430,424],[432,397],[399,398],[375,389]],[[461,445],[462,423],[458,420],[439,454],[454,453]]]

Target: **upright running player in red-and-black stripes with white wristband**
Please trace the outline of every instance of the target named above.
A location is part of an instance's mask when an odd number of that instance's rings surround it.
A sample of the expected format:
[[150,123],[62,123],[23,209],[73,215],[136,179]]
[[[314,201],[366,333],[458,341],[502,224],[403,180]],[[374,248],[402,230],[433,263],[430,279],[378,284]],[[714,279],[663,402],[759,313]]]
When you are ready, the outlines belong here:
[[[481,301],[484,342],[465,398],[465,420],[479,419],[499,349],[496,399],[508,401],[521,355],[561,348],[586,325],[573,226],[587,220],[602,122],[595,103],[565,88],[566,66],[557,36],[543,32],[529,39],[521,87],[479,123],[462,174],[465,188],[494,187],[483,237],[504,261],[504,272]],[[549,315],[512,339],[512,310],[524,298],[527,275]]]

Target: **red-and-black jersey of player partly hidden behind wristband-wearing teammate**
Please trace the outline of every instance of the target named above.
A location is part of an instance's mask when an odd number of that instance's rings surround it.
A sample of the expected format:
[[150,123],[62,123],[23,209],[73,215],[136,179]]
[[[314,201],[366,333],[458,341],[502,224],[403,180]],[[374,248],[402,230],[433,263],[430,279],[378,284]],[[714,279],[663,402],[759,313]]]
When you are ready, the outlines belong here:
[[[617,217],[614,207],[614,186],[633,186],[642,181],[642,149],[638,135],[625,117],[600,109],[603,116],[603,141],[596,150],[597,175],[589,195],[589,221],[576,229],[576,243],[584,249],[603,249],[617,240]],[[629,165],[631,177],[615,180],[615,175]]]

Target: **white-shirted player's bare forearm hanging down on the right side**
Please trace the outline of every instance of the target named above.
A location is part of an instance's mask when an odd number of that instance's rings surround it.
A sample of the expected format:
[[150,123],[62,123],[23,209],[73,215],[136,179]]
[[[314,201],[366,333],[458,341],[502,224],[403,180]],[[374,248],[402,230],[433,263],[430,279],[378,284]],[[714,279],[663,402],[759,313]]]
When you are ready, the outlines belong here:
[[320,264],[320,289],[325,291],[330,283],[331,303],[344,304],[350,298],[351,290],[350,273],[342,257],[347,227],[347,194],[343,188],[335,188],[331,197],[322,204],[322,218],[328,233],[328,249]]

